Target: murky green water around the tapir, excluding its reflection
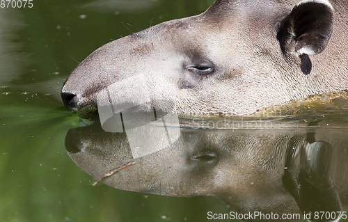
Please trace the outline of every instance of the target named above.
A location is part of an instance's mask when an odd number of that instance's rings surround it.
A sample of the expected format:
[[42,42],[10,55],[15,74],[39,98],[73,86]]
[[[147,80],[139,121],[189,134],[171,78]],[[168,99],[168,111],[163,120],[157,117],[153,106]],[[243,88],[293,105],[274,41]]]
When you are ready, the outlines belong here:
[[[68,130],[89,124],[65,108],[59,95],[78,62],[106,42],[201,13],[213,1],[110,2],[34,1],[33,8],[0,8],[0,221],[209,221],[207,212],[230,212],[215,197],[92,187],[93,178],[69,157]],[[347,111],[333,119],[345,137]],[[199,127],[209,128],[207,124]],[[257,134],[274,132],[293,136],[277,128]],[[132,184],[125,181],[127,185]]]

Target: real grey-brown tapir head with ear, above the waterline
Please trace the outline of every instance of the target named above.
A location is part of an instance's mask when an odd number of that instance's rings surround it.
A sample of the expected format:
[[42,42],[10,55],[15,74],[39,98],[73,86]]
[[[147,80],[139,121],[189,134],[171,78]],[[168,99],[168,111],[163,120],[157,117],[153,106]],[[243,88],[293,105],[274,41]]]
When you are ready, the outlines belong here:
[[141,111],[253,113],[315,93],[308,55],[324,50],[332,29],[326,0],[216,0],[203,14],[95,50],[61,95],[77,111],[109,102],[97,101],[108,89],[109,99]]

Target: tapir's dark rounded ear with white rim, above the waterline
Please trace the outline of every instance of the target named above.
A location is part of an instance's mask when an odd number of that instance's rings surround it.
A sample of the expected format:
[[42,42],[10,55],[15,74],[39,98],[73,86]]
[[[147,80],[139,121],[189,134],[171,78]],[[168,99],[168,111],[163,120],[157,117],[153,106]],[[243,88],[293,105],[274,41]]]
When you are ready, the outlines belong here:
[[278,40],[284,54],[315,55],[325,49],[332,30],[331,3],[328,0],[303,0],[283,20]]

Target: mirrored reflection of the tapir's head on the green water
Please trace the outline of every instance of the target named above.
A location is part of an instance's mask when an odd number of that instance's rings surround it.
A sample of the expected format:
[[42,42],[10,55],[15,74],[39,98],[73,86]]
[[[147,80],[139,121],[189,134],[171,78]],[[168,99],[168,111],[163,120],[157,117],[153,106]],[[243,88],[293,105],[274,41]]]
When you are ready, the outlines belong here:
[[[104,183],[166,196],[216,196],[240,213],[342,212],[348,205],[347,133],[181,128],[175,143],[136,158]],[[65,146],[93,178],[134,159],[125,133],[97,124],[70,129]]]

